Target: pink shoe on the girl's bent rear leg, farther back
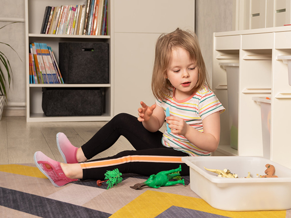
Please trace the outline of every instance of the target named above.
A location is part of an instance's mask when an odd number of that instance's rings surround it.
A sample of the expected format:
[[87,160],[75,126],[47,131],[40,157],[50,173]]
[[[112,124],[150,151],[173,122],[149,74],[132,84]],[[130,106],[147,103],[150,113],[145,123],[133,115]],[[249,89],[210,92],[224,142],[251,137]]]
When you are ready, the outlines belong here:
[[78,148],[72,145],[62,132],[57,134],[57,145],[65,163],[78,163],[76,156]]

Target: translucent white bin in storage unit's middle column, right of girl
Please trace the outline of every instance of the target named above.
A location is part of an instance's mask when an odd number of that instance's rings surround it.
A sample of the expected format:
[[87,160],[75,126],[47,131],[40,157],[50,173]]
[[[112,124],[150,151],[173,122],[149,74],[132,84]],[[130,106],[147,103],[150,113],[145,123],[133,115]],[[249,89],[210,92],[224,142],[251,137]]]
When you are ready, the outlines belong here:
[[252,97],[261,108],[263,156],[271,157],[271,99],[269,97]]

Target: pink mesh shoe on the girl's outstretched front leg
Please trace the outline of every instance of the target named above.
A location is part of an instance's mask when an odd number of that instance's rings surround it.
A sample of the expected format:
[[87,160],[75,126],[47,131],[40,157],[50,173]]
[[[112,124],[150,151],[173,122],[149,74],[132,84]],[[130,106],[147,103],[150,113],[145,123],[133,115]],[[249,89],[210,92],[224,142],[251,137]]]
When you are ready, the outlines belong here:
[[[78,181],[78,179],[70,179],[66,177],[60,166],[60,162],[50,159],[42,152],[35,152],[33,158],[37,168],[49,178],[50,182],[55,187],[61,187],[67,183]],[[51,168],[48,169],[45,164],[49,164]]]

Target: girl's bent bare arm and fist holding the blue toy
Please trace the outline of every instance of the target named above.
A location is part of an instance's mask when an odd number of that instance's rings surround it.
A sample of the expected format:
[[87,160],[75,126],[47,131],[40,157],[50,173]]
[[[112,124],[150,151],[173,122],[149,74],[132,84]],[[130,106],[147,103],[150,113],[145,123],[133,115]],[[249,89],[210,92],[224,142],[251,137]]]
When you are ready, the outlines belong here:
[[219,111],[203,119],[203,133],[186,124],[185,121],[179,117],[167,117],[167,123],[172,133],[184,136],[187,140],[204,151],[214,152],[218,147],[220,140]]

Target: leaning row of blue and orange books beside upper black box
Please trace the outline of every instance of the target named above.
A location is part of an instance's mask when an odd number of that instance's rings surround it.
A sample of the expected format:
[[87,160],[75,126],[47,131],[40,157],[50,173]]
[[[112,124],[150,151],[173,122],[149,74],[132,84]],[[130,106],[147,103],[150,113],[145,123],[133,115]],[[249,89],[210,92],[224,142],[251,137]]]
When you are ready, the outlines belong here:
[[56,58],[47,44],[30,44],[29,66],[30,84],[64,84]]

